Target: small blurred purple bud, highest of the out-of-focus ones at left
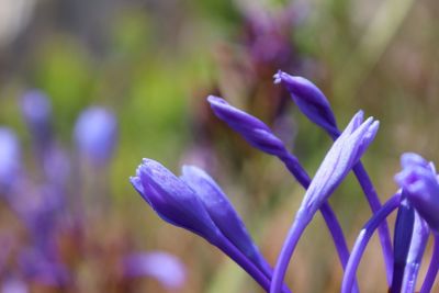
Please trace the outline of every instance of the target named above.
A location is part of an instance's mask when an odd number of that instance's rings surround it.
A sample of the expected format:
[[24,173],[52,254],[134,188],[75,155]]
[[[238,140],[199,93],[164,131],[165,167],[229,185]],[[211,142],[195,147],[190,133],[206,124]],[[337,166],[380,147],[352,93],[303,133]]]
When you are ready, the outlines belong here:
[[21,110],[37,147],[44,148],[52,138],[52,105],[47,97],[38,90],[27,91],[22,98]]

